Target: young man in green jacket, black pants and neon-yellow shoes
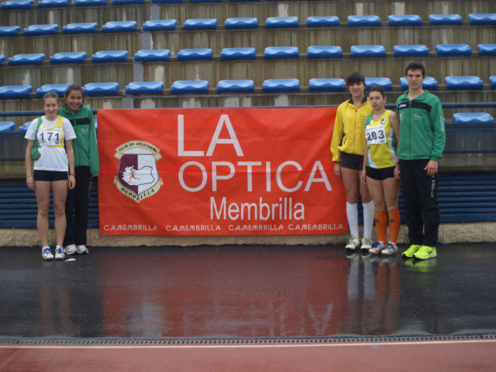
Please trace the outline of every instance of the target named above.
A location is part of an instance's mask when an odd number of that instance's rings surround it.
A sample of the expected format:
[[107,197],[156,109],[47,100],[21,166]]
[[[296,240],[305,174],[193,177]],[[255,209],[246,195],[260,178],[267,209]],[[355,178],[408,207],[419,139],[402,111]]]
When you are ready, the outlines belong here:
[[444,115],[439,98],[422,89],[424,65],[408,64],[405,75],[408,90],[396,101],[396,110],[400,118],[398,159],[411,245],[402,255],[430,259],[437,256],[437,188],[439,160],[446,142]]

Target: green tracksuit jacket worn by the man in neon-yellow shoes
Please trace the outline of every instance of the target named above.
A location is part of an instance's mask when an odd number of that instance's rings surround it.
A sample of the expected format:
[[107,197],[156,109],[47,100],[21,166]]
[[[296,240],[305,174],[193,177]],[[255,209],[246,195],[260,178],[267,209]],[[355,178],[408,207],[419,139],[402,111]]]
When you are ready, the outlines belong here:
[[410,101],[405,91],[396,101],[400,118],[398,159],[439,162],[446,142],[441,101],[429,91]]

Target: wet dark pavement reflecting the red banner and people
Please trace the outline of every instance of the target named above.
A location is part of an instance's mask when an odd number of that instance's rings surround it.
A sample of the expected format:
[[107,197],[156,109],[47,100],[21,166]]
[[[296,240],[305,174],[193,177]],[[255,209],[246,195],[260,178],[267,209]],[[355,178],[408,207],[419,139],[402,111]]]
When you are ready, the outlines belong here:
[[[400,251],[405,247],[400,247]],[[0,338],[216,339],[489,334],[496,247],[427,261],[340,247],[4,248]]]

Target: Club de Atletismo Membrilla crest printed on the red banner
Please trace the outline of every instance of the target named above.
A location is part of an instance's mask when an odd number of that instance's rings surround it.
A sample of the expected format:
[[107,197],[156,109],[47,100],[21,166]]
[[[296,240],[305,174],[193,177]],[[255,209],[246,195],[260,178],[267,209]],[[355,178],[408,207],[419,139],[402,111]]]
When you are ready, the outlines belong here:
[[115,149],[119,169],[113,183],[125,196],[140,203],[153,196],[163,185],[157,171],[160,150],[149,142],[130,141]]

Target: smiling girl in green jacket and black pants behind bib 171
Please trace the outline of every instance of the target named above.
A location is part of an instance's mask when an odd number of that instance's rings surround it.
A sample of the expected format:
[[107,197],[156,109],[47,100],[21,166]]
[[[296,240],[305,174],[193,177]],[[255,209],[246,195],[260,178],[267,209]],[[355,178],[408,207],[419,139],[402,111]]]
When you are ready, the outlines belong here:
[[88,253],[86,247],[86,229],[88,227],[89,192],[91,177],[98,176],[98,146],[93,113],[84,106],[83,89],[71,85],[64,94],[66,104],[59,108],[59,115],[69,119],[77,135],[74,140],[74,170],[76,187],[69,190],[65,202],[67,227],[64,237],[66,254]]

